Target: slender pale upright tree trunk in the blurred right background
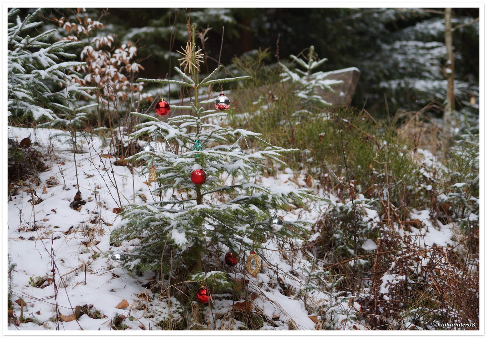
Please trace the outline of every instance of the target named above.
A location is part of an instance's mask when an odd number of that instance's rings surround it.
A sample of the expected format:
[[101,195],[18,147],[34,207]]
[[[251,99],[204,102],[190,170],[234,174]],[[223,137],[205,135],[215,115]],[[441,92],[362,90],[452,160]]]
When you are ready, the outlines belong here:
[[447,89],[447,105],[445,106],[445,112],[443,114],[443,154],[446,155],[446,151],[451,144],[451,118],[453,115],[453,109],[455,109],[455,95],[454,89],[454,74],[455,74],[455,60],[453,58],[453,43],[452,43],[453,31],[451,30],[451,8],[445,9],[445,45],[447,47],[447,65],[445,67],[445,75],[448,80]]

